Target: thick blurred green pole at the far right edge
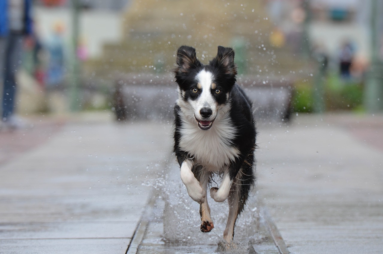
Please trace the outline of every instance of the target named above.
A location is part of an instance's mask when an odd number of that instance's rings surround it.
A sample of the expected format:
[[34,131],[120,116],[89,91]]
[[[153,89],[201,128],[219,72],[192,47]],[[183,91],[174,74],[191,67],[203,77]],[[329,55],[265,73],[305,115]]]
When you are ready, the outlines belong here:
[[377,112],[383,109],[383,68],[379,59],[380,36],[378,22],[381,10],[378,0],[371,1],[371,66],[365,86],[364,104],[368,112]]

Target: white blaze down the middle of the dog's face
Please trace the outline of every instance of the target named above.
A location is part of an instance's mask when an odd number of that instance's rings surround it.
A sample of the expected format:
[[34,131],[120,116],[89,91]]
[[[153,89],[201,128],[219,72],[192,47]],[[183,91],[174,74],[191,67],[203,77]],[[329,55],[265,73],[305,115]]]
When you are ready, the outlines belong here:
[[197,118],[202,119],[200,110],[203,107],[210,108],[213,113],[209,117],[210,120],[213,120],[217,114],[217,102],[214,100],[213,95],[211,94],[211,89],[214,88],[215,84],[213,83],[213,74],[202,70],[196,77],[197,88],[202,91],[200,96],[196,100],[190,100],[190,104],[194,109],[194,114]]

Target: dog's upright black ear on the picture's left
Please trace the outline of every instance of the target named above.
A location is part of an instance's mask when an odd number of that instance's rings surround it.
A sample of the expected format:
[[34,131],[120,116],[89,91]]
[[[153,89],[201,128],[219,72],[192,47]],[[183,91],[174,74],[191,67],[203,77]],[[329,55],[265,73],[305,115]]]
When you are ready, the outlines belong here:
[[174,73],[187,73],[190,69],[201,66],[201,62],[198,61],[195,53],[195,48],[190,46],[181,46],[177,50],[177,67],[174,69]]

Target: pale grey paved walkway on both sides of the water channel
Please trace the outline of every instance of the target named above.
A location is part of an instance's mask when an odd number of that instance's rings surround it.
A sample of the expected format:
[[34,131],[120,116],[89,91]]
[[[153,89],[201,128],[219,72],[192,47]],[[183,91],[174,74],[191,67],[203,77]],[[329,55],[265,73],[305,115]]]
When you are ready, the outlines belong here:
[[[169,160],[171,124],[30,121],[0,132],[0,253],[124,254],[146,183]],[[259,196],[290,252],[381,253],[383,117],[299,115],[259,130]]]

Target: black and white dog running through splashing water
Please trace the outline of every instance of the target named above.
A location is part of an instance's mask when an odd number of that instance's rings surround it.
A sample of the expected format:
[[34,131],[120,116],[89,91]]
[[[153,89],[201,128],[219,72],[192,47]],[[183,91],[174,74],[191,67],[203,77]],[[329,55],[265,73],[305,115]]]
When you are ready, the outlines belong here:
[[231,48],[218,47],[208,65],[189,46],[177,50],[173,70],[178,84],[175,105],[174,153],[189,196],[200,204],[201,231],[214,228],[206,190],[214,173],[219,188],[210,189],[216,202],[228,199],[224,239],[231,243],[234,224],[254,185],[255,123],[252,103],[236,84],[237,66]]

